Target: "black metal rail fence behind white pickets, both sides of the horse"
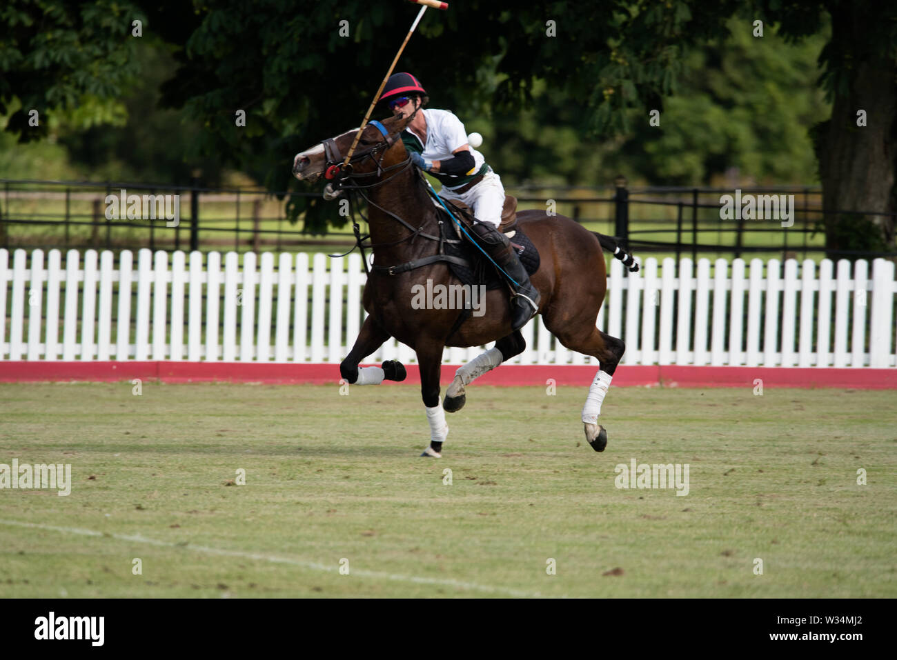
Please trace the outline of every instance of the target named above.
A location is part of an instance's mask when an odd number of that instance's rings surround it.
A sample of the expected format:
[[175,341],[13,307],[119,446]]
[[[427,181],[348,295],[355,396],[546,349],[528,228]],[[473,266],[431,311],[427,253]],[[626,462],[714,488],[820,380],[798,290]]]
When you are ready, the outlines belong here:
[[[752,187],[739,189],[628,188],[623,178],[609,187],[509,187],[518,208],[536,208],[567,215],[588,229],[612,234],[632,251],[663,256],[795,256],[825,255],[822,193],[818,187]],[[177,199],[179,218],[146,213],[144,196],[155,210],[170,210]],[[164,195],[170,195],[164,197]],[[281,195],[278,198],[277,195]],[[258,251],[325,250],[352,245],[348,230],[321,235],[305,231],[302,221],[285,215],[283,195],[258,188],[152,186],[127,182],[73,182],[0,179],[0,247],[190,249]],[[776,195],[788,204],[788,221],[735,213],[725,217],[724,195],[759,198]],[[779,195],[784,195],[781,197]],[[128,213],[134,202],[135,213]],[[181,204],[186,201],[187,204]],[[779,216],[782,215],[776,204]],[[334,204],[334,216],[337,217]],[[741,206],[738,205],[740,209]],[[881,213],[852,212],[858,215]],[[170,215],[170,213],[169,213]],[[893,215],[893,214],[892,214]],[[132,217],[133,216],[133,217]],[[785,226],[787,225],[787,226]],[[844,251],[843,256],[895,256],[897,253]]]

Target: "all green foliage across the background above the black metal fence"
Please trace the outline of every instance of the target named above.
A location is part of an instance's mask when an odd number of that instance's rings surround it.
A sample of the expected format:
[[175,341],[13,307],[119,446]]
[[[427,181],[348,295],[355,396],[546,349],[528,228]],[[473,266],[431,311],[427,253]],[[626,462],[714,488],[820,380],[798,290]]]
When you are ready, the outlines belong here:
[[[745,182],[809,183],[807,129],[830,113],[816,60],[831,93],[856,57],[897,50],[893,21],[833,44],[830,16],[837,28],[843,11],[837,0],[469,0],[428,11],[396,70],[483,134],[506,184],[622,173],[700,185],[733,168]],[[58,135],[94,177],[184,182],[200,168],[213,184],[232,168],[270,190],[318,191],[292,179],[293,154],[358,125],[416,12],[369,0],[11,0],[0,117],[23,140]],[[130,36],[135,18],[142,39]],[[48,113],[39,130],[23,124],[31,107]],[[284,202],[310,231],[345,222],[317,197]]]

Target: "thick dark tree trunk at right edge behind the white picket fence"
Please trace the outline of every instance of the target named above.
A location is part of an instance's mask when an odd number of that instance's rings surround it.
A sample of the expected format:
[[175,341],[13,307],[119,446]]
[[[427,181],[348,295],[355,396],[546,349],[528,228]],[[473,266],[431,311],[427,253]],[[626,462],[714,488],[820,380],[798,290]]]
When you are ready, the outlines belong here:
[[[897,62],[876,52],[875,12],[863,3],[832,12],[830,55],[836,60],[832,118],[817,126],[816,158],[823,184],[825,247],[830,258],[853,257],[841,250],[893,251],[895,218],[833,211],[897,211]],[[880,43],[877,44],[880,46]],[[859,110],[866,126],[858,126]]]

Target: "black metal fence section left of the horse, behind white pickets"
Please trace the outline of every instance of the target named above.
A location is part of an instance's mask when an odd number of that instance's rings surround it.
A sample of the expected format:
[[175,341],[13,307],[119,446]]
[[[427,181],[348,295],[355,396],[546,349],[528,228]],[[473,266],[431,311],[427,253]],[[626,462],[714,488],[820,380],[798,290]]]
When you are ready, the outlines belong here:
[[[342,245],[351,236],[335,231],[315,239],[287,221],[285,203],[275,195],[196,183],[177,187],[0,179],[0,247],[258,251]],[[139,213],[128,213],[132,198],[140,204]],[[177,220],[156,213],[174,205]],[[148,207],[151,213],[146,213]]]

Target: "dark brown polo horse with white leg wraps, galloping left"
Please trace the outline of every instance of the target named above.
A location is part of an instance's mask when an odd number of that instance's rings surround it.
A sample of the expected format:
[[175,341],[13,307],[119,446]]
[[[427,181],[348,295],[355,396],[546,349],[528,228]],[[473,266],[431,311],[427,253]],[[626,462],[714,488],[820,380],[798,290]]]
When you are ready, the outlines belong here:
[[[448,286],[457,287],[459,281],[438,256],[440,221],[448,221],[448,215],[434,204],[399,137],[409,121],[410,117],[390,117],[366,126],[347,168],[342,168],[342,161],[357,129],[296,154],[292,173],[300,180],[331,178],[336,189],[354,190],[367,201],[374,268],[362,301],[369,316],[352,351],[340,364],[340,373],[348,383],[357,385],[379,384],[384,378],[402,380],[405,368],[394,360],[382,367],[359,368],[359,364],[389,337],[410,346],[417,354],[421,395],[431,426],[431,445],[424,456],[439,457],[442,442],[448,436],[443,407],[448,412],[459,410],[466,401],[465,387],[502,361],[518,355],[526,348],[526,342],[519,331],[511,332],[507,289],[487,291],[485,313],[465,317],[459,326],[462,319],[457,309],[420,308],[414,304],[415,291],[421,291],[427,280],[431,280],[433,290],[441,284],[443,291],[451,291]],[[331,183],[326,196],[338,194]],[[603,451],[607,434],[597,417],[614,369],[623,357],[624,345],[622,340],[595,326],[607,284],[602,247],[614,251],[614,256],[631,270],[638,265],[633,265],[632,257],[614,239],[586,230],[562,215],[523,211],[517,217],[518,230],[526,233],[541,257],[541,265],[531,281],[542,296],[539,313],[545,327],[571,351],[591,355],[599,362],[600,370],[589,388],[582,420],[588,443],[596,451]],[[492,341],[493,349],[457,369],[440,407],[443,349]]]

